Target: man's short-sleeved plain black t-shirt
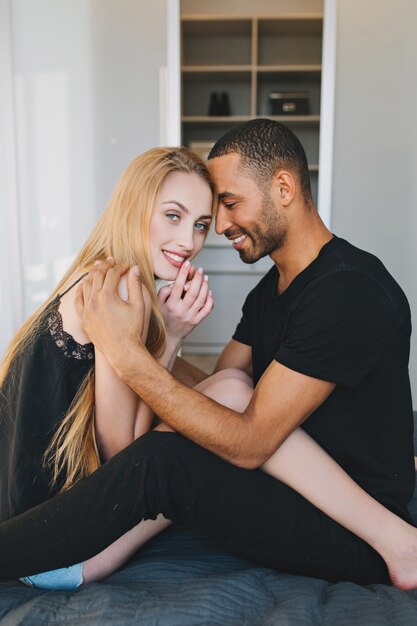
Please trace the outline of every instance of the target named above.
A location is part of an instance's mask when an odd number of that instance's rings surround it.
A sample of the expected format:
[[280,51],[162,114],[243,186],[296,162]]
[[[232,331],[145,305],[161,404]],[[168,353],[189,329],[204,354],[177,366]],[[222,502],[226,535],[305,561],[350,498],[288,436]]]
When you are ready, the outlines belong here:
[[303,428],[371,495],[407,516],[415,472],[404,293],[375,256],[338,237],[280,295],[278,278],[274,266],[250,292],[233,335],[252,348],[254,383],[274,359],[336,383]]

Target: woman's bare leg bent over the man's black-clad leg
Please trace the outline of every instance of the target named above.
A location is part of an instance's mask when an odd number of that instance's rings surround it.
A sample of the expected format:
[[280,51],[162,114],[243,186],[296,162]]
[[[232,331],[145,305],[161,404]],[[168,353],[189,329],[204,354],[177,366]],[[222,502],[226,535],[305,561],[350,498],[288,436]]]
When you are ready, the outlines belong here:
[[[239,370],[220,371],[196,389],[238,411],[253,391]],[[303,429],[295,430],[261,469],[372,546],[394,585],[417,586],[417,529],[359,487]]]

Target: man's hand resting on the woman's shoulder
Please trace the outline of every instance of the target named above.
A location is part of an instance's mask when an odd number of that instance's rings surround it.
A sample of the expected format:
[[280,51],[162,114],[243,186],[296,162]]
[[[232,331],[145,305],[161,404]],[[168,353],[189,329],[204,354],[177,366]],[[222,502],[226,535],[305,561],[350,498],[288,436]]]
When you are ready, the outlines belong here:
[[113,259],[96,265],[77,288],[76,306],[82,325],[94,346],[117,369],[129,345],[140,344],[146,305],[138,268],[127,274],[129,298],[122,300],[118,285],[127,265],[115,266]]

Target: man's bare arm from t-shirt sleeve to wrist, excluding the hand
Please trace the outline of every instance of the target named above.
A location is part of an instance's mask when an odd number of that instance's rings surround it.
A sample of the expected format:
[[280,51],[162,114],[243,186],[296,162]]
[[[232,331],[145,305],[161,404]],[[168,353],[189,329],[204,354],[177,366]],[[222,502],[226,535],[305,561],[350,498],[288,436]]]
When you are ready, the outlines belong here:
[[247,468],[264,463],[334,388],[274,362],[237,413],[176,381],[138,344],[126,345],[113,366],[174,430]]

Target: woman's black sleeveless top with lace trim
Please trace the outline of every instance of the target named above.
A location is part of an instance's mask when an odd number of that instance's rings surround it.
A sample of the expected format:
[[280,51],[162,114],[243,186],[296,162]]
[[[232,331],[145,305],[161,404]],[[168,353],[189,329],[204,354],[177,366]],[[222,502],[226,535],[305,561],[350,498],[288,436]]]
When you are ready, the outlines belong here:
[[0,392],[0,520],[59,490],[50,487],[43,455],[94,364],[93,344],[80,344],[63,329],[58,308],[67,291],[46,308],[38,335],[12,363]]

